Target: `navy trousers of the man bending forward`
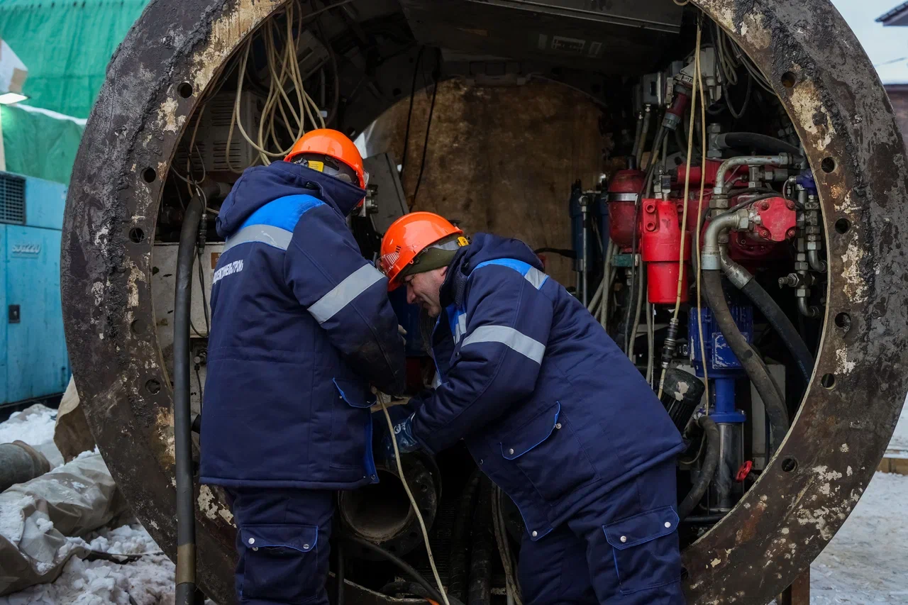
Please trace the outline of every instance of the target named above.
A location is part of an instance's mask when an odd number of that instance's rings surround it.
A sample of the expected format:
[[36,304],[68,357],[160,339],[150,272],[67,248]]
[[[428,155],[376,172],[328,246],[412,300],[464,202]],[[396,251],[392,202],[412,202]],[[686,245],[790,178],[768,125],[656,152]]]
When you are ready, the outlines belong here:
[[524,536],[526,605],[685,605],[675,463],[645,472],[538,541]]

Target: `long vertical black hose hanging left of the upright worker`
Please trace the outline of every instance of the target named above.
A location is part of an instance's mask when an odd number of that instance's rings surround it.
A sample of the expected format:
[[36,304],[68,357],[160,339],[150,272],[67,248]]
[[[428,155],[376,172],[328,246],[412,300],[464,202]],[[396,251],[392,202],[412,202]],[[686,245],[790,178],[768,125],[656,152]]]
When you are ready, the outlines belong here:
[[195,506],[192,498],[192,408],[190,406],[189,322],[192,263],[204,203],[196,194],[183,213],[177,249],[173,297],[173,437],[176,473],[176,600],[192,605],[195,597]]

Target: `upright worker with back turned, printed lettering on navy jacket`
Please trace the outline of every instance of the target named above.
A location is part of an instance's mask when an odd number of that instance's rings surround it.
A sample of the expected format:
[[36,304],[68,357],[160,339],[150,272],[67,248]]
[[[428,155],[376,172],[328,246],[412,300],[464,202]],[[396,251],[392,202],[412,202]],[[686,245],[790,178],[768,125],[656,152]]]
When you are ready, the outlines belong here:
[[365,181],[350,139],[316,130],[218,216],[200,474],[232,501],[244,604],[327,605],[335,492],[378,481],[370,383],[401,392],[404,349],[346,223]]

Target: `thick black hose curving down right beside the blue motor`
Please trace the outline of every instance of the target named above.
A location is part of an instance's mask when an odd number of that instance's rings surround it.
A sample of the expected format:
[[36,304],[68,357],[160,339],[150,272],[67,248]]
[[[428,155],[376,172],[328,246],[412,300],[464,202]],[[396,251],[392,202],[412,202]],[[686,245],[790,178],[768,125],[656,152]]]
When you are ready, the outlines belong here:
[[747,372],[747,377],[754,383],[756,392],[763,400],[766,414],[772,425],[773,443],[777,448],[788,432],[788,411],[785,409],[785,401],[779,394],[773,377],[767,371],[763,360],[756,355],[750,343],[735,325],[732,312],[728,309],[728,303],[725,302],[725,293],[722,291],[722,272],[717,269],[703,270],[703,283],[706,301],[709,302],[709,308],[713,311],[719,331],[725,336],[725,342],[728,342],[728,346],[735,353],[738,362],[741,362]]

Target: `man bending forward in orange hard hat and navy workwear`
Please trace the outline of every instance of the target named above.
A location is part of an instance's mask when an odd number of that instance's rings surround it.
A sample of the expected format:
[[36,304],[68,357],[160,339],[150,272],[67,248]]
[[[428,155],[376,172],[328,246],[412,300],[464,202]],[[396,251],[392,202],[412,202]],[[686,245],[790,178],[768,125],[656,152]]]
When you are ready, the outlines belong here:
[[583,304],[525,243],[485,233],[469,243],[433,213],[393,223],[380,265],[391,289],[406,285],[438,317],[438,385],[394,427],[400,451],[466,441],[526,522],[523,602],[684,603],[681,436]]

